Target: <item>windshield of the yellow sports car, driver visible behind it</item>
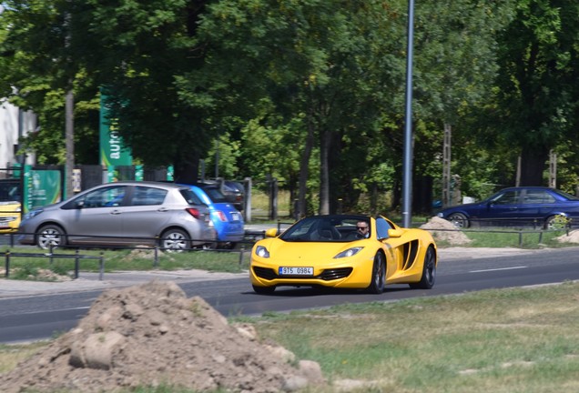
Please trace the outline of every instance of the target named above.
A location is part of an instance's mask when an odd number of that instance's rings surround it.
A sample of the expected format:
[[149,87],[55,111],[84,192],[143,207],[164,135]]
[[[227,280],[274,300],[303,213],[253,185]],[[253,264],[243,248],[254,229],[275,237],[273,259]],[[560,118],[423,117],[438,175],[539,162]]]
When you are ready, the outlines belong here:
[[289,227],[280,239],[289,242],[332,242],[358,240],[356,226],[362,216],[312,216],[305,217]]

